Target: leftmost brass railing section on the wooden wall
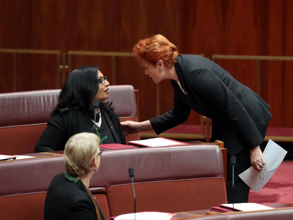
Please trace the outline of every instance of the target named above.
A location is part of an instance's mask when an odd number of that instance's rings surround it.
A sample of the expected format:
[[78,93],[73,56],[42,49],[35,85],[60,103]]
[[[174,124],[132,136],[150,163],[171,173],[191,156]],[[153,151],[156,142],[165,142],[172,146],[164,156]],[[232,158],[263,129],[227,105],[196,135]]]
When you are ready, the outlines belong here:
[[0,53],[11,53],[13,54],[13,92],[17,92],[17,54],[53,54],[57,55],[57,85],[60,84],[60,59],[61,51],[60,50],[33,50],[33,49],[3,49],[0,48]]

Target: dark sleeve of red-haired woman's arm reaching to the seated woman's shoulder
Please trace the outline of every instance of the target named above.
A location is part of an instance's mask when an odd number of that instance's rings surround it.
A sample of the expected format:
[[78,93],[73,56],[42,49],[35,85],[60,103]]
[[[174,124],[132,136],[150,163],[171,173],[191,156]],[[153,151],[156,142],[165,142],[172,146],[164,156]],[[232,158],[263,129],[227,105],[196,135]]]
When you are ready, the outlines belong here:
[[174,92],[174,107],[170,111],[150,119],[151,126],[154,128],[156,134],[160,134],[170,128],[173,128],[188,118],[190,114],[190,107],[180,98],[179,94]]

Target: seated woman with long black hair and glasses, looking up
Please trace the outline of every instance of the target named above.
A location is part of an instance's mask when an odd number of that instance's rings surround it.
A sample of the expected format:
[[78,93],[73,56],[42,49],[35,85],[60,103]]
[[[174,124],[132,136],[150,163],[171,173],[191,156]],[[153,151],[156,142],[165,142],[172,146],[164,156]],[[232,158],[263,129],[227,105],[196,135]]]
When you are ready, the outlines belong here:
[[[77,133],[94,132],[101,144],[125,144],[119,117],[104,102],[109,97],[109,82],[98,66],[81,66],[73,70],[59,94],[59,103],[51,112],[51,120],[35,146],[35,153],[64,150],[67,140]],[[99,99],[95,116],[93,102]]]

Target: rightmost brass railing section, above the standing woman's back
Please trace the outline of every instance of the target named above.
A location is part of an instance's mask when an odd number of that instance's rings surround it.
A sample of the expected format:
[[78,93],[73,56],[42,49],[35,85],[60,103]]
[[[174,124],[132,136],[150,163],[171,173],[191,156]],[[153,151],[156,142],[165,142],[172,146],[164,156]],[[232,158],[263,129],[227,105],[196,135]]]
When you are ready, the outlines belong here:
[[282,56],[246,56],[246,55],[212,55],[212,61],[216,63],[217,59],[223,60],[256,60],[256,88],[257,94],[260,94],[260,61],[261,60],[278,60],[278,61],[293,61],[293,57]]

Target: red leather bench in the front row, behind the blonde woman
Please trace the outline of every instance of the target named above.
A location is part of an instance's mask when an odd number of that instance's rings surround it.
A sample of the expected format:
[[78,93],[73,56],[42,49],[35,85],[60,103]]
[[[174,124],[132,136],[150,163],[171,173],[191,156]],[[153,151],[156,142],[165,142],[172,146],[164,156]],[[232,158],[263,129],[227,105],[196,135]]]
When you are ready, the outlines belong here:
[[[129,167],[137,211],[197,210],[227,202],[218,145],[109,150],[90,181],[106,219],[133,212]],[[65,172],[63,156],[1,162],[1,218],[42,219],[47,187],[60,172]]]

